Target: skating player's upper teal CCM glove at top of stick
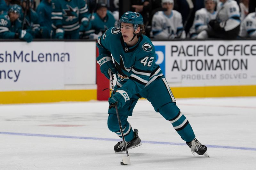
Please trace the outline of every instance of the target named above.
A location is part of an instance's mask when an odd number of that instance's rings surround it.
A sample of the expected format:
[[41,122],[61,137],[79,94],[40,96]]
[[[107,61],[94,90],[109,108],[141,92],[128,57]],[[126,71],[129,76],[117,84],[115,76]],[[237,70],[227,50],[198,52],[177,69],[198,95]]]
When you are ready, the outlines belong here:
[[101,73],[103,73],[109,80],[108,69],[110,69],[112,73],[116,73],[116,67],[111,57],[103,57],[97,63],[100,65]]

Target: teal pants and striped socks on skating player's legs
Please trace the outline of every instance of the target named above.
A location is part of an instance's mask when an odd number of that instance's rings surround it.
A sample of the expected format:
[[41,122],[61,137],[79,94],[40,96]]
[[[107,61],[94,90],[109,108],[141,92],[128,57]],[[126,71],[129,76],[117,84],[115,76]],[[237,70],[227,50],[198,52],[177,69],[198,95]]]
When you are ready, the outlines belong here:
[[[164,77],[150,83],[139,93],[139,95],[148,99],[148,101],[153,105],[155,111],[159,112],[166,120],[170,121],[173,128],[177,131],[177,133],[184,141],[190,142],[195,138],[193,129],[191,128],[185,115],[180,112],[180,109],[176,105],[176,100]],[[124,138],[125,141],[128,142],[133,139],[134,132],[130,123],[127,121],[127,118],[128,116],[132,116],[133,108],[137,103],[138,99],[138,94],[133,95],[130,100],[125,103],[123,108],[118,109],[124,132]],[[108,114],[109,130],[115,132],[118,136],[122,137],[116,116],[115,107],[110,106],[108,109]]]

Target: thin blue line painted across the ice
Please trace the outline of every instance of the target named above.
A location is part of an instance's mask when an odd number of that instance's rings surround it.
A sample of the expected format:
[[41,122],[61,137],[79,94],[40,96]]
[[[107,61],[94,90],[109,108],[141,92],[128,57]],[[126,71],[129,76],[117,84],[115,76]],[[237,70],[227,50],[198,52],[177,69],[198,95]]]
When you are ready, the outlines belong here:
[[[45,134],[30,134],[30,133],[13,133],[13,132],[0,132],[4,135],[20,135],[20,136],[40,136],[40,137],[55,137],[55,138],[70,138],[70,139],[91,139],[99,141],[120,141],[120,139],[112,138],[98,138],[98,137],[83,137],[83,136],[66,136],[66,135],[45,135]],[[141,141],[142,143],[150,144],[164,144],[164,145],[187,145],[186,143],[173,143],[173,142],[157,142],[157,141]],[[221,148],[221,149],[237,149],[256,151],[256,148],[236,147],[236,146],[221,146],[221,145],[206,145],[208,148]]]

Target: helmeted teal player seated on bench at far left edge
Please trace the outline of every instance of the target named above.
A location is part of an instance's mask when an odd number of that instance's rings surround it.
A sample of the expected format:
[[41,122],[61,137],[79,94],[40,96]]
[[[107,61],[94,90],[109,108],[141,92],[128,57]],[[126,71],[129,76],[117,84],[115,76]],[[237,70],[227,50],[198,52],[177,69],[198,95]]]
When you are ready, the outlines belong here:
[[0,38],[20,38],[28,43],[32,41],[33,36],[26,30],[21,30],[20,13],[20,5],[15,4],[11,6],[8,14],[0,15]]

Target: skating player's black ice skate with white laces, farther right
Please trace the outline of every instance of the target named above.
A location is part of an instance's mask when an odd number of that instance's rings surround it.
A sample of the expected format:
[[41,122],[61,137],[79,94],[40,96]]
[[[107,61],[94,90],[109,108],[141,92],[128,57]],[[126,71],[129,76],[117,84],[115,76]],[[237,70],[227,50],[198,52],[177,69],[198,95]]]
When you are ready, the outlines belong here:
[[200,142],[198,142],[196,138],[193,139],[193,141],[186,142],[186,143],[189,146],[189,148],[191,148],[191,152],[193,155],[195,155],[195,152],[196,152],[198,155],[204,155],[206,157],[209,157],[209,155],[206,152],[207,147],[201,144]]

